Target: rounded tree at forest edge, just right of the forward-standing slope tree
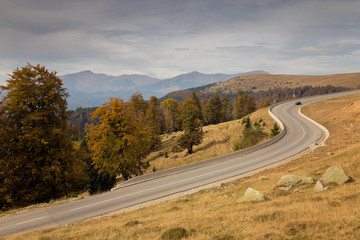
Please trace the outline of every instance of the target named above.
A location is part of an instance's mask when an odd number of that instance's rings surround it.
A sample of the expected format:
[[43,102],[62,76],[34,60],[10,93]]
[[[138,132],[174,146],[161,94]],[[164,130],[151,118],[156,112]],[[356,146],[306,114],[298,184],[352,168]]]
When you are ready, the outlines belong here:
[[222,122],[224,119],[222,107],[219,94],[215,93],[204,107],[204,123],[208,125]]

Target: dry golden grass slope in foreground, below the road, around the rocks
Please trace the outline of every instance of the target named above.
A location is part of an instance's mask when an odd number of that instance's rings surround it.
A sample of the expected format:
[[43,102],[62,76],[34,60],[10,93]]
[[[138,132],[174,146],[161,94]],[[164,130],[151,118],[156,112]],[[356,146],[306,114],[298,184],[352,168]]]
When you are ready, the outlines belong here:
[[[182,198],[69,227],[50,228],[8,239],[160,239],[172,227],[184,227],[187,239],[360,239],[360,95],[316,103],[303,112],[325,125],[327,146],[251,177]],[[316,180],[332,165],[355,179],[315,193],[275,188],[281,176]],[[247,187],[270,201],[236,203]]]

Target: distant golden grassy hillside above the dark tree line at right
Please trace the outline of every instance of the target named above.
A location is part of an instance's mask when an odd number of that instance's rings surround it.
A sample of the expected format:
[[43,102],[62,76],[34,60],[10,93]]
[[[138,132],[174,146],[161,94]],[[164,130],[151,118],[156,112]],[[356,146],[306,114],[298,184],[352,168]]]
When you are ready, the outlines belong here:
[[[206,92],[216,92],[221,89],[223,93],[236,93],[239,89],[244,91],[260,91],[269,88],[295,88],[301,86],[341,86],[357,89],[360,87],[360,73],[334,74],[334,75],[275,75],[275,74],[249,74],[233,78],[229,81],[217,83]],[[254,90],[253,87],[256,87]]]

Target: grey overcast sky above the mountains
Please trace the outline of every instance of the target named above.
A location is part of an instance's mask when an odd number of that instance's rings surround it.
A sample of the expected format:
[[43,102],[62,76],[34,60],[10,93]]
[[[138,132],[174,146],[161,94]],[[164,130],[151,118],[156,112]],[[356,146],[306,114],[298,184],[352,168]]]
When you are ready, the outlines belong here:
[[1,0],[0,79],[190,71],[359,72],[358,0]]

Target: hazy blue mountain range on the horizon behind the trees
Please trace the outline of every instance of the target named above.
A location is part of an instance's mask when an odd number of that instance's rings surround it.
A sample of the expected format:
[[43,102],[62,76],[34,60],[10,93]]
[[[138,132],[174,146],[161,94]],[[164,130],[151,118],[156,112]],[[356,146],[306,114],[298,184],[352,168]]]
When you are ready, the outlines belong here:
[[110,76],[93,73],[90,70],[59,76],[64,87],[70,93],[68,105],[70,109],[77,107],[96,107],[110,97],[128,100],[135,92],[140,92],[144,99],[151,96],[162,97],[169,92],[199,87],[211,83],[222,82],[240,75],[267,73],[252,71],[238,74],[204,74],[190,72],[173,78],[157,79],[146,75]]

